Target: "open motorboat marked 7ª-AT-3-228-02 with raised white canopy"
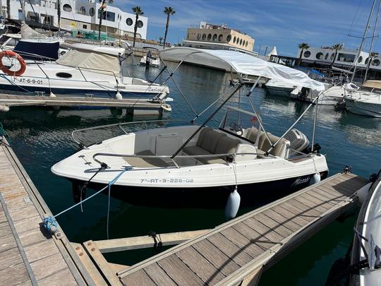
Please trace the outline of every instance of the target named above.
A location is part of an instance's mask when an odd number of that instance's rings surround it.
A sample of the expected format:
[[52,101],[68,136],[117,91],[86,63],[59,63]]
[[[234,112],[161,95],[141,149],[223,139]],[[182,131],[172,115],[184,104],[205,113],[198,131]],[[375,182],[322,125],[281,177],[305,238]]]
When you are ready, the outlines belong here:
[[[262,76],[282,77],[284,80],[290,76],[280,73],[276,68],[267,68],[267,61],[239,52],[200,52],[199,49],[195,52],[192,48],[163,51],[170,52],[173,52],[172,57],[179,59],[192,56],[199,61],[213,60],[220,66],[229,65],[240,77],[242,74],[257,76],[255,85]],[[293,78],[290,77],[289,80],[292,81]],[[306,85],[310,83],[311,88],[319,88],[308,77],[305,81]],[[248,196],[259,196],[262,191],[268,194],[270,191],[279,193],[300,189],[315,179],[327,177],[325,156],[314,151],[302,153],[301,148],[306,148],[306,142],[294,141],[305,137],[297,132],[290,136],[289,132],[301,117],[283,136],[274,136],[265,131],[262,119],[250,100],[255,85],[245,97],[253,111],[227,107],[219,129],[205,125],[232,97],[236,95],[238,100],[241,98],[238,91],[241,88],[246,89],[242,82],[231,86],[231,92],[222,95],[224,103],[202,124],[165,126],[164,121],[158,128],[134,132],[127,132],[123,124],[117,124],[125,131],[123,135],[85,147],[56,163],[52,172],[70,179],[74,184],[84,184],[87,181],[94,188],[107,186],[109,181],[117,178],[113,188],[119,189],[119,193],[127,197],[150,196],[153,201],[164,198],[172,205],[179,205],[179,196],[186,196],[187,193],[191,195],[188,195],[186,203],[188,199],[201,203],[207,194],[212,194],[214,202],[226,201],[226,196],[229,196],[234,186],[238,186],[241,195],[246,193]],[[216,100],[214,104],[217,102],[220,101]],[[313,105],[308,108],[311,106]],[[133,123],[126,125],[129,124]],[[143,124],[150,124],[150,121]],[[94,129],[97,128],[92,128]],[[76,138],[75,134],[77,133],[73,132],[73,138]],[[292,144],[284,138],[286,134],[289,134]],[[76,139],[75,141],[79,142]],[[294,145],[298,150],[291,150]],[[195,196],[195,192],[202,198]],[[170,196],[163,196],[163,193],[170,193]]]

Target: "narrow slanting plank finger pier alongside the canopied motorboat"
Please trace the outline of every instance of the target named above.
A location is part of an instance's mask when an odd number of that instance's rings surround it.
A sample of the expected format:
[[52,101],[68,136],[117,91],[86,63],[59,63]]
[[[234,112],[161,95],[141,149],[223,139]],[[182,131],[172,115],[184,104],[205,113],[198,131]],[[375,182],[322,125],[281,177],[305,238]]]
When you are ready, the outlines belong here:
[[[367,183],[337,174],[118,273],[124,285],[236,285],[332,222]],[[238,188],[239,191],[239,188]],[[244,284],[246,285],[246,284]]]

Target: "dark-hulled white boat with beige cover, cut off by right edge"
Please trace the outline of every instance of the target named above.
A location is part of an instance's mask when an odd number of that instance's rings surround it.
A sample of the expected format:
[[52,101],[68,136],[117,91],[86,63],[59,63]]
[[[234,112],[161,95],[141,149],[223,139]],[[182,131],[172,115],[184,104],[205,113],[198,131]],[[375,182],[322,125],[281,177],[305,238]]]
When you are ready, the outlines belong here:
[[351,113],[381,117],[381,81],[365,81],[361,88],[345,95],[344,99]]

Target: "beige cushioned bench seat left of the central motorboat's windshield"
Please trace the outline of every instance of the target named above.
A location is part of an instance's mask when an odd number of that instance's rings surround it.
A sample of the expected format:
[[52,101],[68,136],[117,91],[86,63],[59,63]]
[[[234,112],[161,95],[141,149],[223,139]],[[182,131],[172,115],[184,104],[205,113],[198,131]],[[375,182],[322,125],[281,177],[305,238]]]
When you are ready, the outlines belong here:
[[[195,146],[188,146],[183,152],[188,155],[212,155],[234,153],[241,141],[229,138],[225,133],[213,129],[202,129]],[[202,164],[224,164],[226,157],[198,157]]]

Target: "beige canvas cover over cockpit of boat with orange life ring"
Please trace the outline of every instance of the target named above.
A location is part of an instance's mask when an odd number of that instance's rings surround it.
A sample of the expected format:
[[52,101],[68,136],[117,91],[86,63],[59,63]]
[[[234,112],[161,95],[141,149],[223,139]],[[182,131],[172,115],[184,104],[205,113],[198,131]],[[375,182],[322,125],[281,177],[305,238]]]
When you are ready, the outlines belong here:
[[106,73],[120,76],[121,68],[119,59],[110,54],[99,54],[97,52],[86,52],[83,50],[71,49],[56,60],[57,64],[63,66],[76,66],[96,70],[97,73]]

